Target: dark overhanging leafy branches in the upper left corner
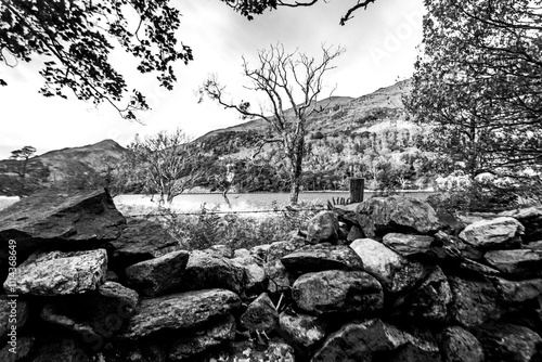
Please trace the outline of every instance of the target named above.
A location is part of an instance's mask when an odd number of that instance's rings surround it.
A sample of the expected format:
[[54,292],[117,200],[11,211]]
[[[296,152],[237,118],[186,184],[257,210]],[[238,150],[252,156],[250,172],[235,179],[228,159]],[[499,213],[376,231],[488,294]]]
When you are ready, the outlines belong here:
[[[138,70],[157,73],[162,87],[171,90],[177,80],[171,63],[188,63],[192,50],[178,47],[179,11],[169,0],[7,0],[0,3],[0,62],[14,66],[37,54],[43,62],[40,75],[44,96],[104,101],[122,117],[136,119],[133,111],[149,108],[144,95],[133,90],[128,105],[124,76],[109,62],[120,47],[140,60]],[[132,28],[133,31],[128,29]],[[180,48],[180,49],[178,49]],[[0,78],[0,86],[7,82]]]

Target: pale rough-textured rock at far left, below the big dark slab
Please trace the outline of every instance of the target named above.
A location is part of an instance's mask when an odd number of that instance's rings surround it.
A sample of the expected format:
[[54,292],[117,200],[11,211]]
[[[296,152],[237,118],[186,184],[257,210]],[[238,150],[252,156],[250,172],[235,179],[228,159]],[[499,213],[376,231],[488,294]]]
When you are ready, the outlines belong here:
[[105,282],[107,253],[35,253],[4,282],[9,294],[62,296],[93,292]]

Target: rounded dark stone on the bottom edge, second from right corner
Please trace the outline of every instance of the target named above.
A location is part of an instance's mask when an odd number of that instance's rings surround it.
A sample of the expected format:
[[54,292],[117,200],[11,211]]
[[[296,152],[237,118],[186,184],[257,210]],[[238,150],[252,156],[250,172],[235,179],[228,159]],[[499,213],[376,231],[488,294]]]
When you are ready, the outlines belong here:
[[483,350],[478,339],[462,327],[446,327],[439,339],[444,362],[485,361]]

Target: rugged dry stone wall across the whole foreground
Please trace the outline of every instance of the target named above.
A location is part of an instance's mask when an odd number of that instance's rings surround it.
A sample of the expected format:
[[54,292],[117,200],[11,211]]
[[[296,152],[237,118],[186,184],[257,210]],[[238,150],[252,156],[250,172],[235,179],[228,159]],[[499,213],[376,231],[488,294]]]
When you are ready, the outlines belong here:
[[0,262],[24,251],[0,361],[542,359],[541,208],[462,221],[371,198],[283,242],[189,253],[106,192],[76,196],[0,211]]

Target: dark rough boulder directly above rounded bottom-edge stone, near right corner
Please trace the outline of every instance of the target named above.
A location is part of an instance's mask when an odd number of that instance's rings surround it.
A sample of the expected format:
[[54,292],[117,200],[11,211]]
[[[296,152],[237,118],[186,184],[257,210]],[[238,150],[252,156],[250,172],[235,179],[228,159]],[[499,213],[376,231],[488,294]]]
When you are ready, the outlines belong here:
[[453,296],[450,316],[454,322],[473,328],[501,318],[500,296],[491,283],[456,276],[449,276],[448,280]]

